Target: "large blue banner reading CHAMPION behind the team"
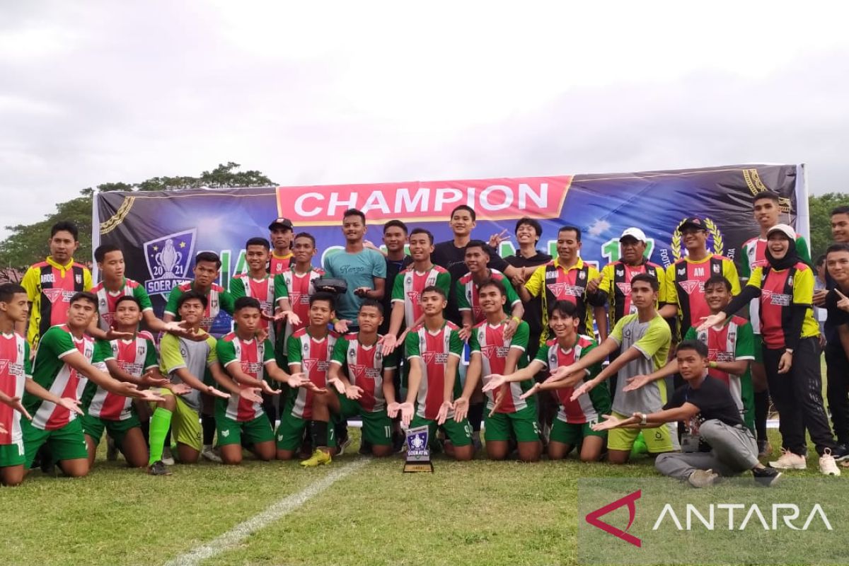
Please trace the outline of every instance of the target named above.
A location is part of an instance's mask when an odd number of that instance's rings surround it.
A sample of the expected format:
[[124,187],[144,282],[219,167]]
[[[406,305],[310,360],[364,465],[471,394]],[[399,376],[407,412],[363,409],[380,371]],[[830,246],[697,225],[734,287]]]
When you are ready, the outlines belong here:
[[[382,243],[385,221],[400,219],[429,229],[436,241],[452,238],[448,217],[457,205],[477,215],[473,238],[487,240],[515,221],[531,216],[543,224],[539,249],[557,255],[557,230],[582,230],[581,255],[604,266],[619,259],[619,236],[642,228],[651,261],[667,266],[684,251],[678,225],[700,216],[708,248],[736,260],[741,244],[760,229],[752,196],[764,190],[781,196],[780,221],[807,236],[807,188],[803,165],[728,165],[679,171],[645,171],[557,177],[505,177],[463,181],[396,182],[360,185],[200,189],[164,192],[98,193],[94,200],[93,247],[115,244],[124,252],[127,277],[143,283],[161,316],[168,292],[192,278],[194,255],[214,251],[222,258],[219,283],[245,272],[245,240],[268,237],[268,224],[290,218],[295,233],[316,238],[319,255],[343,248],[341,214],[366,214],[366,238]],[[501,244],[514,253],[514,239]],[[216,330],[228,328],[221,317]]]

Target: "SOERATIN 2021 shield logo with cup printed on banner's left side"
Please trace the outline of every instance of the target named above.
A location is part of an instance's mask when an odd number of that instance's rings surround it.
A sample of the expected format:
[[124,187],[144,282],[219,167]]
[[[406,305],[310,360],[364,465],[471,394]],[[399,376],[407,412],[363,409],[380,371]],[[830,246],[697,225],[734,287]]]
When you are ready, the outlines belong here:
[[144,261],[148,264],[151,279],[144,282],[148,294],[167,295],[171,289],[191,279],[188,265],[194,257],[197,230],[175,232],[145,242]]

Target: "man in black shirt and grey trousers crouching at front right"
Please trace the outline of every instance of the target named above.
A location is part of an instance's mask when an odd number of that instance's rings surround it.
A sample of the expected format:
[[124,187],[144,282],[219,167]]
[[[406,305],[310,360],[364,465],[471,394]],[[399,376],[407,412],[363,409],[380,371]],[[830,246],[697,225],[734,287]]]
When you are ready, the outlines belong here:
[[[733,476],[751,470],[761,485],[773,485],[778,470],[764,468],[757,461],[757,443],[745,428],[728,386],[708,376],[707,346],[698,340],[684,340],[675,354],[678,373],[686,382],[675,390],[672,400],[659,412],[635,412],[619,419],[604,415],[604,423],[593,430],[656,429],[666,423],[683,421],[695,441],[694,451],[667,452],[655,460],[655,468],[672,478],[686,479],[694,487],[713,485],[719,476]],[[686,439],[686,435],[685,435]],[[701,451],[702,445],[707,451]],[[683,446],[688,446],[685,441]]]

